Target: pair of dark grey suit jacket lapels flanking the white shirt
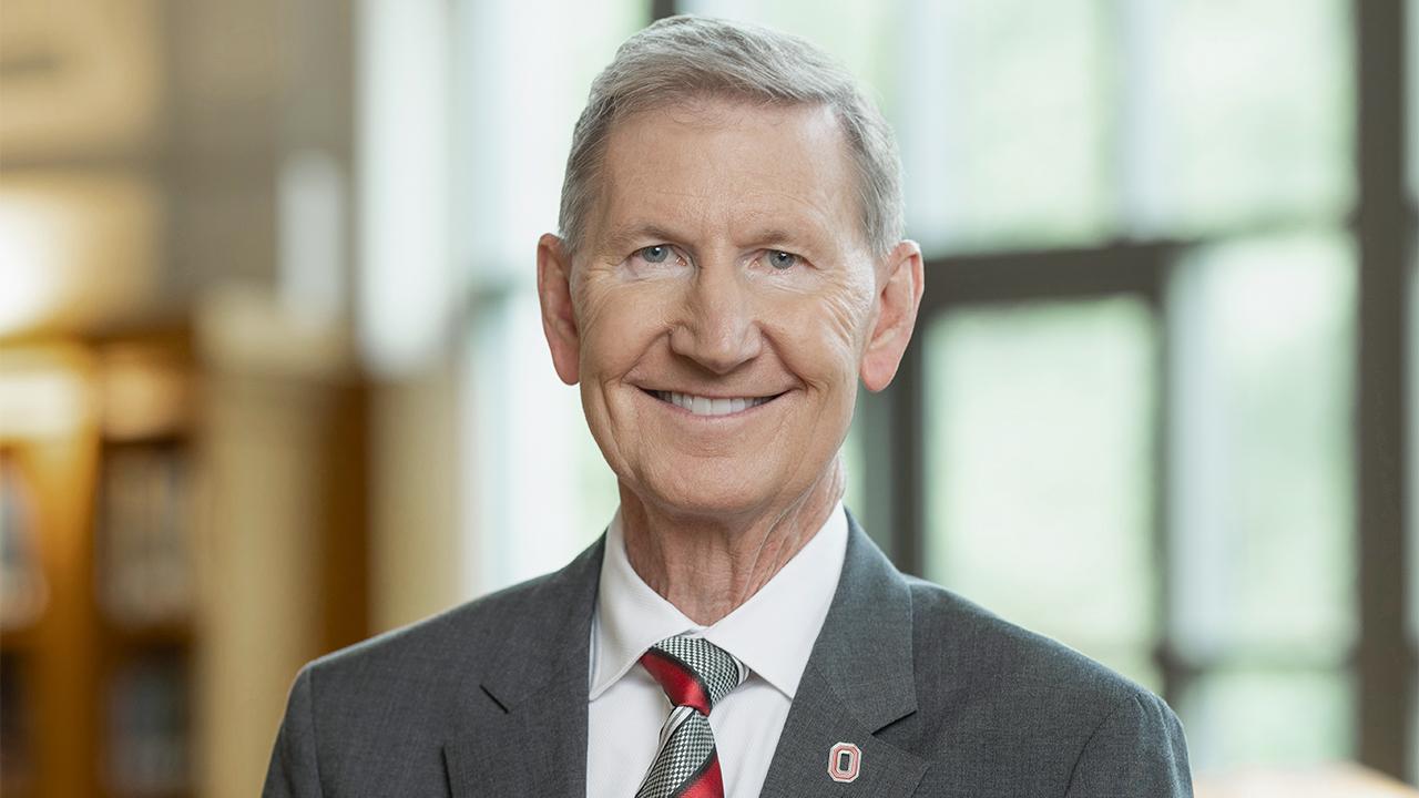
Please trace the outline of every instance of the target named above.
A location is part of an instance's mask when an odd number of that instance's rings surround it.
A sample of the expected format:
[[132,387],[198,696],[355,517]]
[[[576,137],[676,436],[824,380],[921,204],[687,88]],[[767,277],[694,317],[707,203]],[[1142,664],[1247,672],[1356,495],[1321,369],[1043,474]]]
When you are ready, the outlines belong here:
[[[928,764],[877,737],[917,710],[911,592],[849,518],[847,554],[823,630],[769,765],[762,795],[911,795]],[[447,724],[453,795],[585,795],[590,621],[604,540],[522,594],[495,665],[467,677]],[[572,612],[568,609],[572,608]],[[519,632],[519,630],[526,632]],[[861,751],[853,784],[827,777],[829,751]]]

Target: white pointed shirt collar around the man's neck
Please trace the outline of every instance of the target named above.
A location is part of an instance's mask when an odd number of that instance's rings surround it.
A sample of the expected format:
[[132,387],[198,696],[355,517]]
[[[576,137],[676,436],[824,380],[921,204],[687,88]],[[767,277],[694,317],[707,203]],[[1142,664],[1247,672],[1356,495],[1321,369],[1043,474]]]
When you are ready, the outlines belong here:
[[847,514],[839,501],[817,534],[759,592],[718,623],[700,626],[631,568],[617,511],[606,531],[592,622],[590,700],[634,667],[651,645],[681,633],[704,636],[793,699],[846,552]]

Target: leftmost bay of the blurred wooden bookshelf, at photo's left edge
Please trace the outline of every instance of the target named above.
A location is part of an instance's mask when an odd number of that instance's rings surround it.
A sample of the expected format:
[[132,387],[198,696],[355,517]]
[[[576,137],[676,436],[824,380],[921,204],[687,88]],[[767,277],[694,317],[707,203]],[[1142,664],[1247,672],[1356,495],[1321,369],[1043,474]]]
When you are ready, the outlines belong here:
[[[89,528],[99,457],[92,352],[6,345],[0,356],[0,791],[95,795],[98,613]],[[14,603],[11,603],[14,602]]]

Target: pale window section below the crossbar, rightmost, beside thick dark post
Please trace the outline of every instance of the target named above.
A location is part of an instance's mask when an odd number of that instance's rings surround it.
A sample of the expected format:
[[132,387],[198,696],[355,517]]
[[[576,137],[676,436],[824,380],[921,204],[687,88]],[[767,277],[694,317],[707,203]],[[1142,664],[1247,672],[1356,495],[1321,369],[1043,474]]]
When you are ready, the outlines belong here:
[[1354,263],[1337,233],[1226,241],[1171,285],[1178,710],[1202,770],[1355,754]]

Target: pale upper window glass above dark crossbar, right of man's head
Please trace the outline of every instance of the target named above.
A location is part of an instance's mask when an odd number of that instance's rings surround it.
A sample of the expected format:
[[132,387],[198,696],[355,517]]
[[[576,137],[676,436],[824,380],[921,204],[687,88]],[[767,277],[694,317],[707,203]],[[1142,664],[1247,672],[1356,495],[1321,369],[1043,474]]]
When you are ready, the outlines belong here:
[[863,78],[928,251],[1098,240],[1120,213],[1176,236],[1354,202],[1349,0],[683,7],[797,33]]

